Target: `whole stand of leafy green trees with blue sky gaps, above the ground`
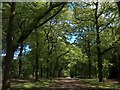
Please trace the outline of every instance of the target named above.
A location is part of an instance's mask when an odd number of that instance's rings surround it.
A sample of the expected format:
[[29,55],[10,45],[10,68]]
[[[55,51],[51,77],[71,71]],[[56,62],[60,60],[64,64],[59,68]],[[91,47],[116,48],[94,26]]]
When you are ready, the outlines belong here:
[[13,78],[120,80],[119,5],[3,3],[2,90],[10,90]]

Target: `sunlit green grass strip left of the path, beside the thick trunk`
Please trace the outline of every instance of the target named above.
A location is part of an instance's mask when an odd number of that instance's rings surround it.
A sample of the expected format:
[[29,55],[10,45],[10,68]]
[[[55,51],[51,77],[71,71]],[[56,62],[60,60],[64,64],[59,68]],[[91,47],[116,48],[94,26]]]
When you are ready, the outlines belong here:
[[19,83],[12,85],[12,88],[16,89],[30,89],[30,88],[43,88],[43,87],[48,87],[51,84],[53,84],[55,80],[41,80],[38,82],[27,82],[27,83]]

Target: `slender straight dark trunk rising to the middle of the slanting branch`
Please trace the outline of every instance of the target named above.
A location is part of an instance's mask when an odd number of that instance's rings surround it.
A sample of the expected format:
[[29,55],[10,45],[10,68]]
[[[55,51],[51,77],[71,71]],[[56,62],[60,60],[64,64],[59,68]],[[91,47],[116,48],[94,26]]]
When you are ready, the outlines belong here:
[[38,32],[36,32],[36,61],[35,61],[35,81],[38,81],[38,72],[39,72],[39,53],[38,53],[38,48],[39,48],[39,42],[38,42]]

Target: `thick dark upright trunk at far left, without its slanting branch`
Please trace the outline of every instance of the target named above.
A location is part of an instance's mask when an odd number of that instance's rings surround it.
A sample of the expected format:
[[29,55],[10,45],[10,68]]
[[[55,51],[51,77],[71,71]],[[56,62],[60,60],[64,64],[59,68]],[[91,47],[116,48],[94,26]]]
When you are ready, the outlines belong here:
[[7,50],[6,50],[6,56],[3,61],[3,81],[2,81],[2,90],[10,90],[10,79],[11,79],[11,64],[12,59],[14,57],[14,46],[12,41],[12,32],[13,32],[13,20],[15,16],[15,2],[11,3],[11,12],[10,12],[10,18],[9,18],[9,26],[7,30]]

